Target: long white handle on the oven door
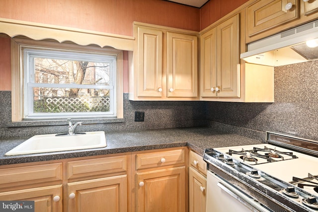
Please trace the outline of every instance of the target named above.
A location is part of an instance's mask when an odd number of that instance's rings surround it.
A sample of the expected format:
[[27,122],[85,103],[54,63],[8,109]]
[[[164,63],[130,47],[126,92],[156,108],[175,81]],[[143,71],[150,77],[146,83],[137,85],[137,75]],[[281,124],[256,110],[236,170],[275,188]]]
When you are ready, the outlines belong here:
[[249,208],[252,212],[272,212],[270,209],[265,208],[265,206],[262,207],[258,204],[255,204],[256,200],[254,198],[248,196],[247,194],[243,194],[241,191],[233,188],[232,186],[228,186],[222,182],[218,182],[217,186],[228,193],[231,197],[238,200],[241,204]]

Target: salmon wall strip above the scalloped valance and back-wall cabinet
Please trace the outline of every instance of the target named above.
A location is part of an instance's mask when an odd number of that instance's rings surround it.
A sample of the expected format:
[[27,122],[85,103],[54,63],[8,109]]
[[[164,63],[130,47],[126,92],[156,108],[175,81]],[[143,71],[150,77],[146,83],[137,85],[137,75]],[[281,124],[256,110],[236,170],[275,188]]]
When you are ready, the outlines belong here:
[[164,0],[0,0],[0,17],[133,36],[133,21],[199,31],[200,9]]

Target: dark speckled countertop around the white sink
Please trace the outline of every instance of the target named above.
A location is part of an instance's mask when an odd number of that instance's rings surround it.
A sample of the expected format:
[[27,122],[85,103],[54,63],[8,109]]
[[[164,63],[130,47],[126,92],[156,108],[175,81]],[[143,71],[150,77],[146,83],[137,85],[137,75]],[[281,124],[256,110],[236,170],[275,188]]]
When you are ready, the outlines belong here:
[[261,141],[236,134],[215,132],[212,128],[175,128],[106,133],[107,146],[103,148],[15,156],[4,155],[5,152],[27,139],[0,139],[0,165],[180,146],[189,146],[203,155],[205,148],[261,143]]

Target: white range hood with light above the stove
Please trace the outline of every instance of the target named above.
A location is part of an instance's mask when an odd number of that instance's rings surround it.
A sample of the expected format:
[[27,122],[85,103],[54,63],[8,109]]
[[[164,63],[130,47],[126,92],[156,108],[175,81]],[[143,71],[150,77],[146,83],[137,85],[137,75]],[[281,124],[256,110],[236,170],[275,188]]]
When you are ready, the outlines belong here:
[[317,60],[318,47],[306,45],[315,39],[318,39],[318,20],[249,43],[247,52],[240,54],[240,58],[272,67]]

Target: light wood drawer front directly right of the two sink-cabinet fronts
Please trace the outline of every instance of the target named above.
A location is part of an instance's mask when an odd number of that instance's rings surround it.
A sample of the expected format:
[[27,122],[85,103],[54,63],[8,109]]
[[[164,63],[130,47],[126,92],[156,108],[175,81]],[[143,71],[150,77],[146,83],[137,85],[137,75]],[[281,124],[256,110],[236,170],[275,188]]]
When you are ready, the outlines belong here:
[[184,149],[137,154],[137,170],[155,168],[185,162]]

